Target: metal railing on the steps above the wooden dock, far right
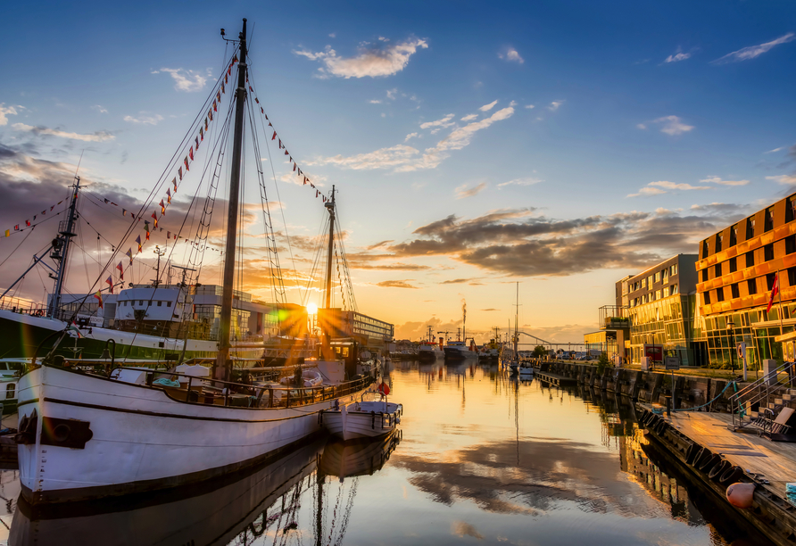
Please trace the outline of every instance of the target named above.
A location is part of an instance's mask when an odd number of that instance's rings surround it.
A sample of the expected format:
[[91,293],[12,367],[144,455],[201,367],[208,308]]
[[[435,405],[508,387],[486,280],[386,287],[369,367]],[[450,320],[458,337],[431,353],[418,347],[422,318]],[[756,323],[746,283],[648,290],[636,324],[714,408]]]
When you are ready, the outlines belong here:
[[[789,393],[784,393],[785,389],[792,389],[796,383],[796,362],[784,362],[782,366],[768,372],[754,383],[746,385],[737,393],[729,396],[730,413],[733,416],[733,424],[728,426],[730,430],[736,431],[746,426],[754,426],[762,433],[772,432],[774,421],[781,409],[790,400]],[[776,398],[777,395],[787,395],[784,398]],[[771,399],[775,398],[772,404]],[[777,403],[776,400],[780,400]],[[758,406],[757,416],[751,415],[752,408]],[[772,407],[773,406],[773,407]]]

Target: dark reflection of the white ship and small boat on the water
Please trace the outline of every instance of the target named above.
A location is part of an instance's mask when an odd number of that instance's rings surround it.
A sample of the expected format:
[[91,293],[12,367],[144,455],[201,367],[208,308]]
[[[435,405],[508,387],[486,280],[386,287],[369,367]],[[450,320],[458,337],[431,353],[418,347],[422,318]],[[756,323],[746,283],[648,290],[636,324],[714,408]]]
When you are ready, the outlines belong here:
[[342,542],[348,516],[344,510],[338,513],[336,505],[324,506],[323,485],[329,477],[336,476],[341,483],[352,478],[346,506],[350,511],[356,495],[356,476],[372,475],[383,467],[400,439],[397,431],[369,443],[317,440],[243,476],[237,475],[232,483],[175,489],[133,504],[126,498],[123,504],[70,503],[42,510],[20,499],[9,544],[200,546],[252,544],[261,538],[279,536],[284,543],[287,534],[301,533],[296,521],[310,492],[319,523],[329,521],[327,512],[331,509],[336,516],[331,518],[331,525],[336,528],[309,525],[313,543],[318,536],[327,534]]

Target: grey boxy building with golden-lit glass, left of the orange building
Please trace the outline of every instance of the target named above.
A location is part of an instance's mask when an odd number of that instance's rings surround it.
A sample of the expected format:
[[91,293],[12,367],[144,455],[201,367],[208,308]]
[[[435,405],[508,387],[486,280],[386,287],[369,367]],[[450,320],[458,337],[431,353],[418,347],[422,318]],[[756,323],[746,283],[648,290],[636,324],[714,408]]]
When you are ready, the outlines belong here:
[[[617,329],[625,357],[639,364],[643,356],[676,356],[681,366],[700,366],[701,346],[694,343],[696,254],[677,254],[616,285],[618,312],[601,318],[601,327]],[[624,323],[624,324],[623,324]],[[629,339],[625,337],[629,334]],[[656,349],[657,348],[657,349]]]

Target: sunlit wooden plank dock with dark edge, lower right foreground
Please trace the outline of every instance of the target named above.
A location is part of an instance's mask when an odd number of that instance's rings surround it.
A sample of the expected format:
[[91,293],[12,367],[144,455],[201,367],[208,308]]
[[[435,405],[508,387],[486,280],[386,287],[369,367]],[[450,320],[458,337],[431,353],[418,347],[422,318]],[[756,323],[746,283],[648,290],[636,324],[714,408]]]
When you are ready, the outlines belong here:
[[[727,425],[733,418],[728,414],[679,411],[648,420],[652,407],[639,403],[637,408],[648,436],[720,497],[726,497],[730,484],[720,483],[717,476],[711,478],[709,471],[725,460],[727,468],[740,467],[743,473],[735,481],[755,482],[758,487],[752,509],[736,512],[776,544],[796,543],[796,506],[785,493],[785,484],[796,482],[796,444],[770,442],[753,430],[731,432]],[[694,454],[702,448],[714,455],[714,464],[693,464]]]

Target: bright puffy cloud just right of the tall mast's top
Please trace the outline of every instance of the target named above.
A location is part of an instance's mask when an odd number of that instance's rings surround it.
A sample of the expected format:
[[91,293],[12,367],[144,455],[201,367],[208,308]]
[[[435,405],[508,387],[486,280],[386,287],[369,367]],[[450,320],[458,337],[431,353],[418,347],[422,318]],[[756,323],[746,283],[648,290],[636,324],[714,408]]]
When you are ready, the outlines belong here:
[[[307,57],[311,61],[319,61],[323,64],[319,73],[321,78],[337,76],[339,78],[379,78],[392,76],[406,68],[411,55],[418,49],[426,49],[426,40],[420,38],[410,38],[406,41],[392,45],[385,45],[382,41],[379,45],[365,44],[360,47],[359,54],[354,57],[339,57],[330,45],[326,50],[319,53],[309,51],[294,50],[294,54]],[[383,47],[382,47],[383,46]]]

